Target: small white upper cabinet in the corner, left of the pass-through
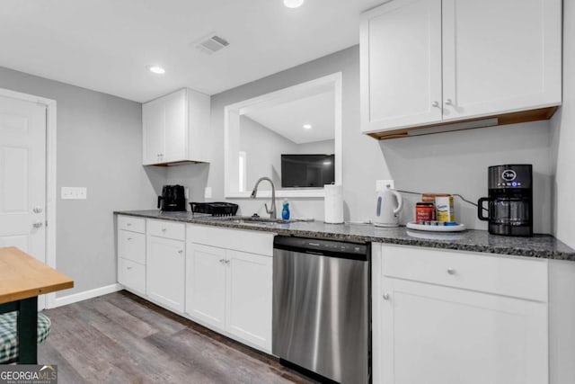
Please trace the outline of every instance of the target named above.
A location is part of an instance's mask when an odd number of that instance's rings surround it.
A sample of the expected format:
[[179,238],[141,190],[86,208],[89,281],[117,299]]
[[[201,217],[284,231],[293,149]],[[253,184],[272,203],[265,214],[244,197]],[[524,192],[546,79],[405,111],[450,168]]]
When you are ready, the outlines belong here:
[[208,162],[209,96],[181,89],[142,107],[143,164]]

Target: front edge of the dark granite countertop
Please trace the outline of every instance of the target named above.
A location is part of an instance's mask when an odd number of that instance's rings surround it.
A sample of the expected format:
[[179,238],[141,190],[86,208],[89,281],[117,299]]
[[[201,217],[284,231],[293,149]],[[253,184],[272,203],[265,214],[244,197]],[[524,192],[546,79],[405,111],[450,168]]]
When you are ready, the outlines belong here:
[[[243,225],[238,223],[230,223],[226,220],[218,220],[211,216],[200,216],[197,218],[175,218],[175,217],[157,217],[147,213],[139,213],[134,211],[114,211],[114,215],[125,215],[133,216],[144,219],[159,219],[159,220],[170,220],[179,221],[188,224],[200,224],[208,225],[210,227],[219,228],[231,228],[231,229],[247,229],[247,230],[257,230],[261,232],[273,232],[278,235],[283,236],[298,236],[298,237],[313,237],[313,238],[323,238],[330,240],[340,240],[348,241],[353,243],[384,243],[384,244],[394,244],[399,246],[420,246],[429,248],[441,248],[456,251],[465,252],[477,252],[484,254],[495,254],[495,255],[509,255],[509,256],[523,256],[523,257],[533,257],[540,259],[551,259],[551,260],[564,260],[575,262],[575,252],[563,252],[558,250],[538,250],[538,249],[522,249],[513,246],[484,246],[479,244],[469,244],[469,243],[452,243],[449,241],[423,239],[423,238],[397,238],[397,237],[374,237],[367,235],[351,235],[342,233],[330,233],[322,232],[318,230],[302,230],[293,228],[281,228],[281,227],[264,227],[264,226],[254,226],[254,225]],[[549,235],[549,237],[552,237]],[[560,242],[560,240],[556,240]],[[561,243],[561,242],[560,242]]]

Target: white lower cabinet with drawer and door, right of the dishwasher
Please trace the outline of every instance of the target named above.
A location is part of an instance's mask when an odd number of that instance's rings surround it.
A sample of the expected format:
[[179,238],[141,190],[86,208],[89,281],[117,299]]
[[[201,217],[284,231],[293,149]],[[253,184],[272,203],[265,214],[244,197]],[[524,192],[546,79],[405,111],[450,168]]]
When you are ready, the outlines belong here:
[[374,383],[548,382],[546,260],[376,249]]

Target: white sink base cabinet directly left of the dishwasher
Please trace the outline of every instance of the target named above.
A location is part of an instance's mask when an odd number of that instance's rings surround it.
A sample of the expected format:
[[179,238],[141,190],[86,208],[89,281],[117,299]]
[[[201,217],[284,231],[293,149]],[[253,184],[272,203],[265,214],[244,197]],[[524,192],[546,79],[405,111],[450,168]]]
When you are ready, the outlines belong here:
[[[250,241],[232,249],[230,239]],[[271,233],[189,225],[186,306],[190,317],[271,353]],[[199,244],[208,243],[208,244]],[[245,251],[258,251],[255,254]]]

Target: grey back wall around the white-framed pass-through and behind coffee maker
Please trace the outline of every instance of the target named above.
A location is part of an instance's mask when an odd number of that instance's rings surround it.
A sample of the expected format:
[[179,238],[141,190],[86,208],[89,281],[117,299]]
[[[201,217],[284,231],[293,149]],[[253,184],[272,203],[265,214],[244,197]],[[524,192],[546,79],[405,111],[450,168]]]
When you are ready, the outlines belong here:
[[[487,193],[487,167],[506,163],[533,164],[535,170],[535,231],[552,230],[549,121],[473,129],[416,138],[377,141],[359,130],[358,46],[264,77],[212,96],[212,135],[215,158],[223,158],[224,107],[335,72],[342,73],[343,193],[345,219],[372,219],[377,179],[395,180],[396,188],[416,192],[460,193],[471,201]],[[182,165],[194,167],[197,165]],[[181,170],[177,171],[179,174]],[[168,171],[173,177],[174,169]],[[196,181],[189,180],[189,183]],[[199,181],[201,182],[201,181]],[[214,200],[224,198],[224,165],[209,166],[207,184]],[[402,222],[413,218],[417,198],[406,195]],[[234,201],[244,214],[263,212],[263,200]],[[292,216],[323,219],[323,200],[299,199],[290,204]],[[487,228],[475,208],[456,200],[456,218],[470,228]]]

